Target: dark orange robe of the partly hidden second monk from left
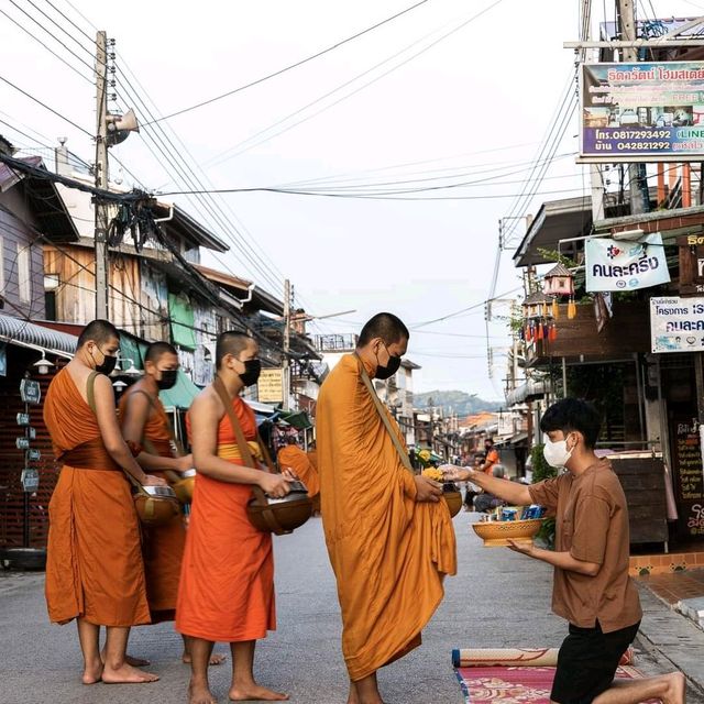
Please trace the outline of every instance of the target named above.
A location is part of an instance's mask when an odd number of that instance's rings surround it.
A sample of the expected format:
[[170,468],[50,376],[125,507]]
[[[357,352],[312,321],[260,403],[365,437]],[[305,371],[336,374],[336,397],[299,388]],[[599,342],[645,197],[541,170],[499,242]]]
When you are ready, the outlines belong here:
[[[135,392],[144,393],[133,386],[120,399],[120,417],[122,419],[125,417],[129,399]],[[155,407],[150,404],[150,415],[144,426],[143,449],[150,454],[154,451],[163,458],[172,458],[174,454],[168,417],[162,402],[158,398],[152,400]],[[150,470],[150,474],[168,481],[164,472]],[[163,526],[143,527],[142,553],[152,623],[174,620],[180,561],[184,557],[185,546],[186,527],[180,514],[174,516]]]

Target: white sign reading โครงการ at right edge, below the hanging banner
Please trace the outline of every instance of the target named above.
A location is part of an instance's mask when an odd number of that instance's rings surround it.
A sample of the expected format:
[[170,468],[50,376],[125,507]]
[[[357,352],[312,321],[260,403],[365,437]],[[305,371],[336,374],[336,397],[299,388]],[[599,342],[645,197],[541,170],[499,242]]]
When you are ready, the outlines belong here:
[[650,340],[653,352],[702,352],[704,298],[651,298]]

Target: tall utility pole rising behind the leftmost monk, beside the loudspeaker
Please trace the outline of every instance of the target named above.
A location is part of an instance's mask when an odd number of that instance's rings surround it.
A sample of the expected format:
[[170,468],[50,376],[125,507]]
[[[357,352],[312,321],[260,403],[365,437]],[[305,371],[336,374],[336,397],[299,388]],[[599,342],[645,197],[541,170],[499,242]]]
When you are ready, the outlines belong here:
[[[108,188],[108,37],[96,35],[96,188]],[[108,282],[108,205],[95,199],[96,318],[110,318]]]

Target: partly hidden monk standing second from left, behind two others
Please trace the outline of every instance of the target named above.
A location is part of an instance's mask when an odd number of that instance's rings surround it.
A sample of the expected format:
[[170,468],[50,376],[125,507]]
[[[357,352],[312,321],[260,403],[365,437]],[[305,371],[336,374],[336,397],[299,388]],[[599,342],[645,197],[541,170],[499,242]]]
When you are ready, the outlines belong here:
[[[176,457],[174,432],[158,394],[176,384],[178,353],[168,342],[152,342],[144,355],[144,376],[130,386],[120,399],[122,436],[135,451],[144,471],[167,481],[165,472],[177,473],[194,465],[191,454]],[[186,544],[183,515],[176,515],[163,526],[142,527],[142,553],[146,578],[146,597],[153,624],[174,620],[178,579]],[[182,659],[190,663],[190,642],[184,637]],[[212,654],[210,664],[220,664],[224,656]],[[148,664],[148,661],[132,664]]]

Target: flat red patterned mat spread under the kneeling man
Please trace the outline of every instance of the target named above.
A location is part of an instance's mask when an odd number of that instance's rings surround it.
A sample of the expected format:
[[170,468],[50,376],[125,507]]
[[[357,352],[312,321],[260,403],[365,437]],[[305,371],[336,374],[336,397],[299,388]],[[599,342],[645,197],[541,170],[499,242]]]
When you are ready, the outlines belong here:
[[[554,668],[473,667],[455,669],[466,704],[549,704]],[[618,668],[616,676],[635,680],[640,673],[631,667]]]

